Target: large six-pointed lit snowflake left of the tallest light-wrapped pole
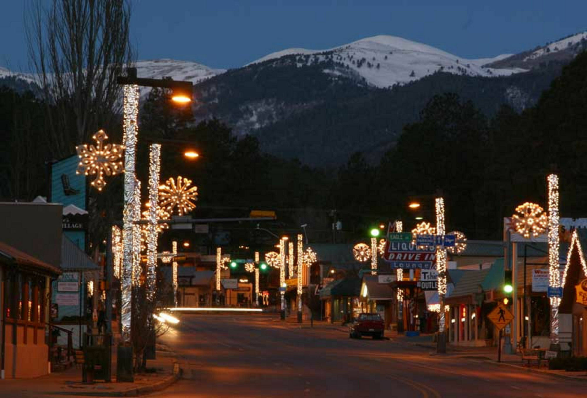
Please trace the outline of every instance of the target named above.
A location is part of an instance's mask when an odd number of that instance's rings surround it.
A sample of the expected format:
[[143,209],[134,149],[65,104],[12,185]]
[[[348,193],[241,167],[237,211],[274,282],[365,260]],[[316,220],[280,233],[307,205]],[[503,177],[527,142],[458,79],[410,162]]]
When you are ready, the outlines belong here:
[[75,148],[80,158],[76,174],[96,175],[90,184],[98,191],[102,191],[102,188],[106,186],[104,175],[112,176],[124,171],[122,164],[124,145],[104,145],[104,141],[108,139],[104,130],[98,130],[92,135],[92,139],[96,141],[96,146],[83,144]]

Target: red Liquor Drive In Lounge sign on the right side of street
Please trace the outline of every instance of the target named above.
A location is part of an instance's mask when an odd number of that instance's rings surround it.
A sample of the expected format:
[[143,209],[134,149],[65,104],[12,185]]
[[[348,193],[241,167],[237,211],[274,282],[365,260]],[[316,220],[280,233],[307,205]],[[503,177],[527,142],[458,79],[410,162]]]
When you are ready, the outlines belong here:
[[387,241],[383,258],[389,262],[389,266],[392,268],[430,270],[436,267],[434,246],[422,247],[406,241]]

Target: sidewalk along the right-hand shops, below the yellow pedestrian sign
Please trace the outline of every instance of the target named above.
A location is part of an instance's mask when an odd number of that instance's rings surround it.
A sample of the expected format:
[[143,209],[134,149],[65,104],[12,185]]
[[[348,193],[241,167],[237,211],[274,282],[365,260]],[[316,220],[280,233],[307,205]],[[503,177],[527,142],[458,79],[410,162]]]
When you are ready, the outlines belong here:
[[566,372],[565,370],[550,370],[547,362],[542,361],[542,365],[538,368],[535,361],[528,366],[527,362],[522,362],[522,357],[519,354],[510,354],[501,352],[501,362],[497,362],[497,347],[463,347],[447,345],[447,352],[444,354],[436,353],[436,343],[432,341],[431,335],[423,335],[417,337],[397,336],[392,338],[392,342],[400,344],[410,344],[420,346],[422,348],[429,348],[430,355],[446,356],[447,358],[471,358],[481,359],[488,363],[493,363],[499,366],[511,366],[512,368],[524,369],[528,372],[542,373],[544,375],[562,377],[564,379],[582,380],[587,382],[587,372],[581,370],[579,372]]

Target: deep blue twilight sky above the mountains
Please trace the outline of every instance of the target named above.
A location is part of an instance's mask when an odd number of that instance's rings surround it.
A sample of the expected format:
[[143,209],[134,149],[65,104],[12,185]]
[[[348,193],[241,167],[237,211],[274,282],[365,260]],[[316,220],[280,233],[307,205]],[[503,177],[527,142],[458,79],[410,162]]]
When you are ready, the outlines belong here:
[[[2,2],[0,66],[29,70],[23,14],[31,2]],[[131,41],[139,59],[190,60],[217,68],[239,67],[288,47],[327,49],[375,35],[401,36],[466,58],[492,57],[587,30],[585,0],[131,4]]]

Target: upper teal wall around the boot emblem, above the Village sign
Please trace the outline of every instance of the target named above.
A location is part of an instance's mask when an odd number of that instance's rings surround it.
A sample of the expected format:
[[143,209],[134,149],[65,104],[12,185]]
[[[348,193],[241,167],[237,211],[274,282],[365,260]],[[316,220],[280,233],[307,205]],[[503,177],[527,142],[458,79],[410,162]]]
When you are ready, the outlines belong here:
[[[76,174],[79,157],[72,155],[59,162],[55,162],[51,169],[51,202],[67,205],[76,205],[80,209],[86,209],[86,176]],[[62,175],[69,178],[69,186],[75,189],[75,195],[65,195],[62,183]]]

